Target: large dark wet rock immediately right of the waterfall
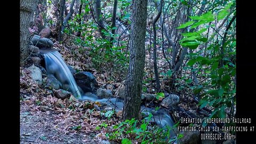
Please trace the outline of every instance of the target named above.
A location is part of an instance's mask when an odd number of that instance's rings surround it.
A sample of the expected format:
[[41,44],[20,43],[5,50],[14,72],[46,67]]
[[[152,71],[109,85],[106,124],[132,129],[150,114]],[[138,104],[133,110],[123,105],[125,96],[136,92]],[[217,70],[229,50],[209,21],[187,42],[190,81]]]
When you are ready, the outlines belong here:
[[96,92],[97,88],[99,87],[96,78],[90,72],[82,71],[76,73],[74,78],[77,85],[81,87],[84,93]]

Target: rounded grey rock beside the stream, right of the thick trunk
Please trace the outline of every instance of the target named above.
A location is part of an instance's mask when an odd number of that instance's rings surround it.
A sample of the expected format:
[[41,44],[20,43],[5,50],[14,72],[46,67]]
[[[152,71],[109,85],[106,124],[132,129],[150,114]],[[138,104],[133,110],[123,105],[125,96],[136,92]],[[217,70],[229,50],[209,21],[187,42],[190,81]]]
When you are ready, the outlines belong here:
[[166,108],[171,108],[175,107],[180,101],[180,98],[176,94],[170,94],[169,97],[166,97],[163,99],[161,102],[161,106],[166,107]]

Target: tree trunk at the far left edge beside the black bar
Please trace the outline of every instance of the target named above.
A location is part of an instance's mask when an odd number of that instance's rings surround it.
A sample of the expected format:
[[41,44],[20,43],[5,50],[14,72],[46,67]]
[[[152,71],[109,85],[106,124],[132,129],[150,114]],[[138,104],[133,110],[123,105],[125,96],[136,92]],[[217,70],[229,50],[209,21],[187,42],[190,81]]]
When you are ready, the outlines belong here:
[[28,55],[28,28],[33,25],[33,16],[38,1],[20,1],[20,55],[21,61]]

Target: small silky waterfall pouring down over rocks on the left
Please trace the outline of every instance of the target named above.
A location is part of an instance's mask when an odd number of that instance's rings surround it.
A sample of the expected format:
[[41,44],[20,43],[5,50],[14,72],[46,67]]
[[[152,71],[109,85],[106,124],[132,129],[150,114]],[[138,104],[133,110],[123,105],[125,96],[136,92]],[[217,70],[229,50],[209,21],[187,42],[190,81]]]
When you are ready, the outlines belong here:
[[76,98],[81,98],[76,81],[60,53],[58,51],[49,51],[44,53],[44,58],[47,77],[57,78],[61,82],[63,90],[73,93]]

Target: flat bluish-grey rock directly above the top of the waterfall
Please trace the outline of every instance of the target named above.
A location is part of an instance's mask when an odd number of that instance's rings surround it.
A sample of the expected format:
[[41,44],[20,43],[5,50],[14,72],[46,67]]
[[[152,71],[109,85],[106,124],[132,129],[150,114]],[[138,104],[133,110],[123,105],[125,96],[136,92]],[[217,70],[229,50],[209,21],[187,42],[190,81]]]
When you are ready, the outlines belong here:
[[49,38],[40,38],[40,36],[38,35],[34,35],[31,38],[31,42],[33,43],[33,45],[42,48],[42,47],[52,47],[53,46],[53,42],[51,41],[51,39]]

